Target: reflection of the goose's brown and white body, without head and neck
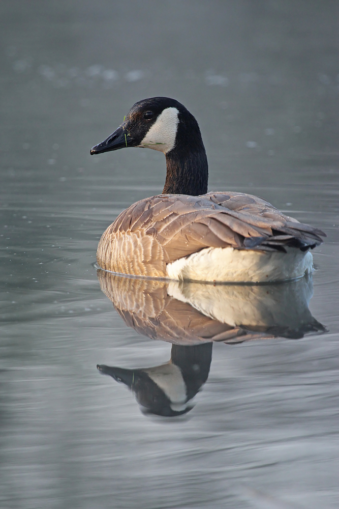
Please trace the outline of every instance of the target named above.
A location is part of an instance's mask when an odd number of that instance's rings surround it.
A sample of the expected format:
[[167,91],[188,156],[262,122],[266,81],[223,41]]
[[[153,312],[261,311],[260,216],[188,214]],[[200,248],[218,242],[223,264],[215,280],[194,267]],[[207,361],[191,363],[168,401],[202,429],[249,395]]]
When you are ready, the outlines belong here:
[[275,285],[206,285],[120,277],[98,270],[102,291],[129,327],[178,345],[243,342],[324,331],[312,316],[311,277]]

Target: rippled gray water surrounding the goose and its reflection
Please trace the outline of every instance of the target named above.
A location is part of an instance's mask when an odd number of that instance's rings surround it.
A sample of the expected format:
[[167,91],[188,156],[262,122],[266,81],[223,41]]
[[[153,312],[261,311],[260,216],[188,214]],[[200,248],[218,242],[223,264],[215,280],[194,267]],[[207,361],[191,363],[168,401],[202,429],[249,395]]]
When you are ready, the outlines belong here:
[[[337,507],[337,4],[3,0],[0,12],[1,507]],[[309,304],[327,332],[215,342],[176,417],[141,411],[97,370],[171,356],[168,336],[126,326],[94,267],[116,215],[161,192],[165,159],[89,149],[155,95],[196,116],[210,190],[257,194],[327,234]]]

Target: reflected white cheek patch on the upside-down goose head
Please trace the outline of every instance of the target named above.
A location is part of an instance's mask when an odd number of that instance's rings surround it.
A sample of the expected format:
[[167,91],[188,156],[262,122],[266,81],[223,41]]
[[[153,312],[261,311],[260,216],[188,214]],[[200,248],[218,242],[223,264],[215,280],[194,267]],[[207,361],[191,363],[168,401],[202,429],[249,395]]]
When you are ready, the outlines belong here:
[[171,403],[182,405],[186,402],[186,385],[178,366],[168,363],[144,371],[165,392]]

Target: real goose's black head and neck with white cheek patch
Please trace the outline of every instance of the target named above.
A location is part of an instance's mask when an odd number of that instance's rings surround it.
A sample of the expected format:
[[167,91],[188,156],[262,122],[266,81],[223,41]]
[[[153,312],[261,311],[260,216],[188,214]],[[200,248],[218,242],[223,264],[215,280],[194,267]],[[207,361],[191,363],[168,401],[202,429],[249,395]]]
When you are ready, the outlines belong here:
[[175,99],[151,97],[135,103],[119,127],[90,154],[141,147],[166,156],[164,193],[198,195],[207,191],[208,164],[200,129]]

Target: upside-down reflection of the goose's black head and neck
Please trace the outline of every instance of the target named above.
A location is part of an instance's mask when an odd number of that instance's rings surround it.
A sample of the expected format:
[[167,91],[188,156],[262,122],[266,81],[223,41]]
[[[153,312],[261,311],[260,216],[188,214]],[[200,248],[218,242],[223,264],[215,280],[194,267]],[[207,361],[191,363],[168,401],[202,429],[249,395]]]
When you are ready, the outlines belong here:
[[191,410],[190,400],[206,382],[212,360],[212,343],[192,347],[172,345],[171,360],[160,366],[138,370],[98,365],[133,390],[145,413],[173,417]]

